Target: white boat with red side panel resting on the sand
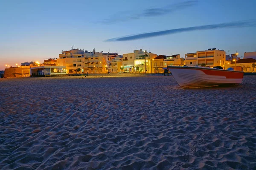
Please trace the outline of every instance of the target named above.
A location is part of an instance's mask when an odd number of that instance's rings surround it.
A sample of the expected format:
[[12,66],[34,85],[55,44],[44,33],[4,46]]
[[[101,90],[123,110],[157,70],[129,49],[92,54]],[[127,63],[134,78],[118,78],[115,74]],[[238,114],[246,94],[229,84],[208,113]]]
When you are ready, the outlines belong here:
[[207,68],[201,66],[168,66],[177,83],[182,88],[200,88],[217,85],[242,83],[244,72]]

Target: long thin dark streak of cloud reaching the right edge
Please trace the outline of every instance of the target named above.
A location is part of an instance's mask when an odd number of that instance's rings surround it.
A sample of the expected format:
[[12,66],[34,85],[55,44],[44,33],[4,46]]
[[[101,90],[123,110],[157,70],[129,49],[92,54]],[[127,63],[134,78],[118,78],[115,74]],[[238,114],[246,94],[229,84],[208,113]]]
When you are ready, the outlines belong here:
[[194,26],[194,27],[187,27],[187,28],[177,28],[177,29],[169,29],[165,31],[156,31],[156,32],[149,32],[143,34],[135,34],[135,35],[128,35],[124,37],[117,37],[111,38],[105,41],[129,41],[129,40],[139,40],[143,38],[149,37],[157,37],[163,36],[168,34],[177,34],[181,32],[189,32],[189,31],[197,31],[197,30],[209,30],[209,29],[219,29],[219,28],[243,28],[243,27],[256,27],[256,20],[247,20],[247,21],[238,21],[238,22],[231,22],[231,23],[221,23],[221,24],[212,24],[212,25],[205,25],[205,26]]

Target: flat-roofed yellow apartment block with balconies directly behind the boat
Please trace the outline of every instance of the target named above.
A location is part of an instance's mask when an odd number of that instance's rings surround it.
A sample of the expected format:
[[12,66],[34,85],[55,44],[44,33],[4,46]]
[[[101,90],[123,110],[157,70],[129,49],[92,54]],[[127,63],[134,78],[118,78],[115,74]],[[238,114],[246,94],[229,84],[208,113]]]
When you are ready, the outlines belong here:
[[185,65],[202,65],[209,67],[224,67],[226,62],[226,52],[224,50],[216,50],[209,48],[205,51],[197,51],[196,53],[188,53],[185,55]]

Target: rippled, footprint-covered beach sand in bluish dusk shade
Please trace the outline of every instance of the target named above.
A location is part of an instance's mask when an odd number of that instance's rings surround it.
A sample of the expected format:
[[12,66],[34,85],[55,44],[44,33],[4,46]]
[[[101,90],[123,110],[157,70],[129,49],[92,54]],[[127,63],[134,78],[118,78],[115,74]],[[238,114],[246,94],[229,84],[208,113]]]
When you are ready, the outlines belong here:
[[256,76],[0,79],[0,169],[256,169]]

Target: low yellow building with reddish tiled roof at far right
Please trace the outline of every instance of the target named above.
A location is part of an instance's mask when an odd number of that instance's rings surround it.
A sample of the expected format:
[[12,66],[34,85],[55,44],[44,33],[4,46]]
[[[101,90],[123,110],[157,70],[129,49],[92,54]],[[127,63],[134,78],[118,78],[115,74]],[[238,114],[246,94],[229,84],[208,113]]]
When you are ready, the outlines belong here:
[[246,59],[239,59],[235,62],[225,64],[225,68],[233,68],[235,70],[236,65],[236,71],[244,71],[248,73],[256,72],[256,67],[253,67],[253,63],[256,64],[256,59],[253,58],[246,58]]

